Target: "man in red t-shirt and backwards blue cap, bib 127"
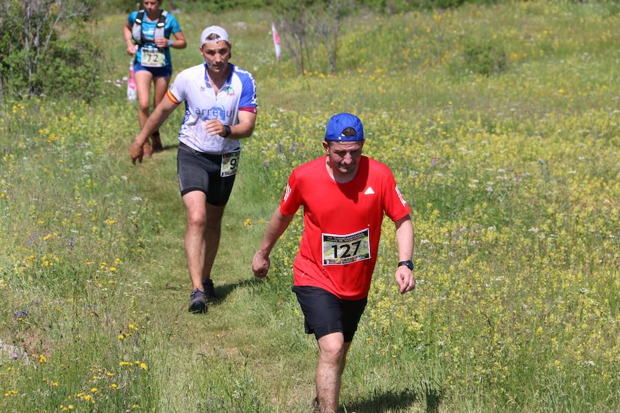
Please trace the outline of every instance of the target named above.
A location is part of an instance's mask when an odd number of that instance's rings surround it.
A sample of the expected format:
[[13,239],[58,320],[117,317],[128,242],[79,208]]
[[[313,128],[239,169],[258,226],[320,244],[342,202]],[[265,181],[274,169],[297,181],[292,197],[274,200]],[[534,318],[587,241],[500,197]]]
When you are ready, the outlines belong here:
[[319,347],[316,406],[337,412],[340,376],[347,351],[366,307],[377,260],[384,213],[396,225],[400,293],[413,290],[411,209],[388,167],[362,156],[364,129],[352,114],[327,123],[327,156],[293,170],[252,260],[258,278],[269,271],[269,253],[304,207],[304,233],[293,262],[293,292],[304,313],[305,330]]

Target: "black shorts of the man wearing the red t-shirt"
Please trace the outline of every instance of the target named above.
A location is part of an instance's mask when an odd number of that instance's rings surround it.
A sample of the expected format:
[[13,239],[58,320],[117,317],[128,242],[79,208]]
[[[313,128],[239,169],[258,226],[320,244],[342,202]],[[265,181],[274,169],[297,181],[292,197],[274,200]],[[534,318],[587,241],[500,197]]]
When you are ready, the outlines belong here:
[[304,313],[306,334],[316,339],[332,332],[342,332],[344,342],[353,340],[368,299],[340,299],[323,288],[293,286],[293,293]]

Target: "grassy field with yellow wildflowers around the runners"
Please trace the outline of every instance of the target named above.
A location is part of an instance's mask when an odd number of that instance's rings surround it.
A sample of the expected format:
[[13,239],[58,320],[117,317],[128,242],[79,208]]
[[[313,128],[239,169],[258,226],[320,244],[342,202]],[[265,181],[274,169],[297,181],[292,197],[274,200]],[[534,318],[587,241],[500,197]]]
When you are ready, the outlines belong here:
[[[229,28],[254,73],[214,268],[187,313],[177,111],[132,166],[124,16],[101,37],[105,96],[0,111],[0,412],[308,412],[316,343],[290,291],[300,217],[257,281],[251,256],[327,118],[364,121],[413,208],[417,288],[397,294],[386,220],[343,412],[618,412],[620,8],[529,1],[343,25],[340,73],[273,59],[269,15],[178,19],[175,72]],[[116,83],[121,87],[117,87]]]

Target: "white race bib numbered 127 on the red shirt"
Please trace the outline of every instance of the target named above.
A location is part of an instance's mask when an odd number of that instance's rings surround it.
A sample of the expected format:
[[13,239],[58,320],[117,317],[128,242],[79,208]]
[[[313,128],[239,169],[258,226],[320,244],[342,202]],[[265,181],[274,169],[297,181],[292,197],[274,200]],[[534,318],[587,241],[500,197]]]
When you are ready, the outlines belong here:
[[323,265],[344,265],[369,260],[369,229],[347,235],[322,233]]

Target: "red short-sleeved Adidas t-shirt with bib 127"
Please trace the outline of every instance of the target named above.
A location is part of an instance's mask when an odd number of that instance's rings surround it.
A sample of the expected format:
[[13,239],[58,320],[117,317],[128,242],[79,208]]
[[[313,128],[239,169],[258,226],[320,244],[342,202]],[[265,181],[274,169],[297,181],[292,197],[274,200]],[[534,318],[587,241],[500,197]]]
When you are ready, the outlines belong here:
[[304,207],[304,233],[293,262],[293,284],[316,286],[341,299],[368,295],[383,213],[393,221],[411,209],[390,169],[362,156],[353,180],[337,183],[321,157],[293,170],[280,212]]

